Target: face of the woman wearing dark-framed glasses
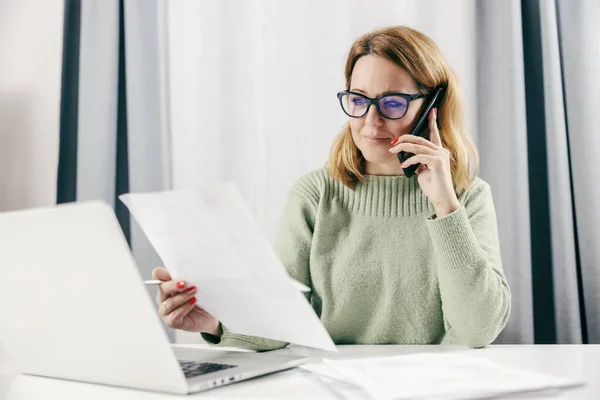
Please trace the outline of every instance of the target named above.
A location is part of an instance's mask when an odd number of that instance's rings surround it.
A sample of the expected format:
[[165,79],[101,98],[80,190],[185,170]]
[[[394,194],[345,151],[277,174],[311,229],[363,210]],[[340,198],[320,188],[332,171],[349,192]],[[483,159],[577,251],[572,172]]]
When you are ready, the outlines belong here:
[[[419,93],[414,79],[403,68],[378,56],[358,59],[352,71],[350,91],[375,98],[386,93]],[[402,168],[395,154],[388,150],[392,139],[408,133],[419,113],[423,99],[413,100],[404,117],[389,120],[372,105],[362,118],[350,118],[350,129],[356,146],[366,160],[370,175],[400,175]]]

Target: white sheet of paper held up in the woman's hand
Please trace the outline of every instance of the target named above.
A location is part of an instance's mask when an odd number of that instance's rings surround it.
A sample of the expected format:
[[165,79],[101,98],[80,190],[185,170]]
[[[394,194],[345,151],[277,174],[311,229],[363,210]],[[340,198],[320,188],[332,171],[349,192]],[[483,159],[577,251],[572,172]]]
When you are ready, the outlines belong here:
[[229,330],[336,351],[234,184],[119,198],[173,279],[196,285],[198,306]]

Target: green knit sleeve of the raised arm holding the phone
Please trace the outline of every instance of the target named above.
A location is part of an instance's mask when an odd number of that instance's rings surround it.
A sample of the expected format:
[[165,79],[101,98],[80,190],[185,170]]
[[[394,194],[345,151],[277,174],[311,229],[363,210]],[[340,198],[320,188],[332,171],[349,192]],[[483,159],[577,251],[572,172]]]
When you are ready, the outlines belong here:
[[461,204],[449,215],[427,220],[446,324],[442,343],[484,347],[506,326],[511,292],[490,186],[476,179]]

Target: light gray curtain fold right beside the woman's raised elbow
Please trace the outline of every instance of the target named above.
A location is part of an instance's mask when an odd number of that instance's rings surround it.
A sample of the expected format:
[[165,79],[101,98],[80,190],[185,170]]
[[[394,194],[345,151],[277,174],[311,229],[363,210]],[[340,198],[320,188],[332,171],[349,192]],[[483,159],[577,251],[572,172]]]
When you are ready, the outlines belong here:
[[477,121],[480,176],[492,188],[512,310],[500,343],[533,343],[527,123],[521,2],[479,1]]

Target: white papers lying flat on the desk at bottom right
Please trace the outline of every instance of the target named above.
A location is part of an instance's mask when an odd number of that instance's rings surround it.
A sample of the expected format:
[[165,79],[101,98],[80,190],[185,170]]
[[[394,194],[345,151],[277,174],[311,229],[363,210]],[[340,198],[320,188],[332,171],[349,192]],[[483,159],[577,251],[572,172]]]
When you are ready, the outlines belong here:
[[481,399],[582,384],[467,354],[422,353],[323,362],[329,369],[310,364],[300,368],[357,385],[377,400]]

